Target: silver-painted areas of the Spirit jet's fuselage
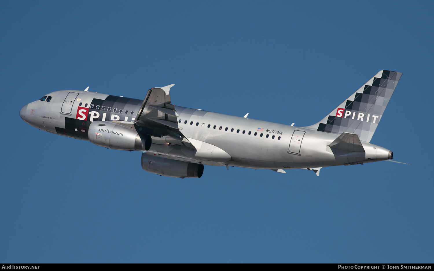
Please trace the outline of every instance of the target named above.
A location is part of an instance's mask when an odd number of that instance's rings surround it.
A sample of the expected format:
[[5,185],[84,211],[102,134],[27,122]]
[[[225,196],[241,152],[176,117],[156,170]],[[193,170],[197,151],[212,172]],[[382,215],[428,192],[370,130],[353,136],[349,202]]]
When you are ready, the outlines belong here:
[[[74,97],[70,92],[78,94],[72,105],[67,104],[70,101],[66,101],[68,95]],[[138,99],[87,91],[55,91],[47,96],[52,97],[51,101],[38,100],[24,106],[20,111],[21,118],[40,130],[82,140],[89,140],[87,129],[92,121],[134,121],[135,113],[142,104],[142,100]],[[96,109],[95,105],[90,108],[92,101],[105,100],[109,96],[113,100],[110,103],[113,104],[111,111],[101,110],[101,105],[99,109]],[[69,112],[70,106],[70,113],[63,113],[62,106],[63,112]],[[113,112],[115,107],[117,111]],[[120,108],[123,109],[122,113],[119,113]],[[179,114],[178,125],[185,137],[220,148],[230,155],[230,160],[222,163],[197,159],[195,150],[170,144],[170,138],[166,137],[153,137],[148,153],[205,165],[254,169],[316,168],[388,160],[389,150],[363,141],[365,152],[335,150],[328,146],[336,139],[334,134],[192,108],[175,108]],[[125,114],[127,110],[128,113]],[[132,111],[135,113],[131,114]],[[258,131],[261,129],[262,131]],[[298,132],[294,133],[295,131]],[[289,148],[290,144],[298,146]]]

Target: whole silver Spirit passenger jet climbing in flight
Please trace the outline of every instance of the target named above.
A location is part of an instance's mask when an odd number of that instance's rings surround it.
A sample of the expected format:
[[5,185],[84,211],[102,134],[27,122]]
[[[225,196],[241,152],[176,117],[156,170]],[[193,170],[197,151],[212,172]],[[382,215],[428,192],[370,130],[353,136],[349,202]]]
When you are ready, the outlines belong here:
[[[204,165],[312,170],[393,159],[370,141],[401,78],[382,70],[321,121],[296,127],[184,108],[171,103],[173,85],[148,90],[143,100],[62,90],[25,105],[20,117],[53,134],[115,149],[141,151],[150,173],[200,178]],[[400,163],[400,162],[398,162]]]

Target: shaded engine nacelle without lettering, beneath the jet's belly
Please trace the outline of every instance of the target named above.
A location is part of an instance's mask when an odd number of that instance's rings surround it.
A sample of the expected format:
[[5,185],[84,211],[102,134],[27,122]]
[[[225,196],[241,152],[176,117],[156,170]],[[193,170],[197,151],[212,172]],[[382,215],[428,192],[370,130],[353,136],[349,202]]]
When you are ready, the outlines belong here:
[[204,165],[188,163],[157,155],[143,153],[141,168],[150,173],[178,178],[200,178],[204,173]]

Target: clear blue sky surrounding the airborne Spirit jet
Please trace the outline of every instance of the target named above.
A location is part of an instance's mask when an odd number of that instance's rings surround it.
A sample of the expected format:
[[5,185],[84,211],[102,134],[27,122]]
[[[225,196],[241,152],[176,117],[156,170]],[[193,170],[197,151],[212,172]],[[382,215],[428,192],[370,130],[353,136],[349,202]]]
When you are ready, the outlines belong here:
[[[0,262],[434,261],[431,1],[1,1]],[[147,173],[140,153],[39,131],[57,90],[314,124],[403,72],[372,143],[401,165]]]

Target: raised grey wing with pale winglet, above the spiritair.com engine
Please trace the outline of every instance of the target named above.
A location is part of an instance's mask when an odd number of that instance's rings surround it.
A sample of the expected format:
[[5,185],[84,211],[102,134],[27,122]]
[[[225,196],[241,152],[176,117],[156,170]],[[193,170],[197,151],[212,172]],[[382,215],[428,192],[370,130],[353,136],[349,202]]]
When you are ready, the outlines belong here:
[[154,137],[168,136],[180,143],[191,147],[194,146],[188,141],[178,126],[178,113],[171,104],[170,88],[175,84],[161,88],[151,88],[141,104],[134,124],[138,126],[138,131]]

